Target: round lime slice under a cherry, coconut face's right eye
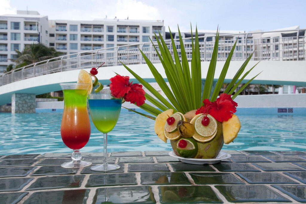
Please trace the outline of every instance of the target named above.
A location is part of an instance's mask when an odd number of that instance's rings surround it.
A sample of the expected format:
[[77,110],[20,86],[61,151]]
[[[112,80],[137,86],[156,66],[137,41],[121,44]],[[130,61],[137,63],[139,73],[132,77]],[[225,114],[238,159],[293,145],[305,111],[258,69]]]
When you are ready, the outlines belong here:
[[209,118],[210,122],[207,126],[203,126],[202,119],[204,117],[205,115],[201,115],[196,119],[194,123],[194,129],[196,130],[196,133],[202,137],[213,136],[217,132],[217,121],[214,119],[214,117],[207,114],[207,117]]

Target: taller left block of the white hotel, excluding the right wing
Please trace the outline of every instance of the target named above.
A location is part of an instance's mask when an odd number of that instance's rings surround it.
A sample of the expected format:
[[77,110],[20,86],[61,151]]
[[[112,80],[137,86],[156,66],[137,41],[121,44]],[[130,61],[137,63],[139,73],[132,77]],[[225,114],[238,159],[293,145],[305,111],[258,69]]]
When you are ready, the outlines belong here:
[[[150,42],[154,32],[165,34],[163,21],[95,19],[49,20],[37,11],[0,16],[0,75],[32,43],[44,43],[64,55],[120,45]],[[136,48],[137,46],[135,46]],[[126,47],[124,47],[126,48]],[[121,48],[121,49],[124,49]],[[134,48],[130,46],[130,48]]]

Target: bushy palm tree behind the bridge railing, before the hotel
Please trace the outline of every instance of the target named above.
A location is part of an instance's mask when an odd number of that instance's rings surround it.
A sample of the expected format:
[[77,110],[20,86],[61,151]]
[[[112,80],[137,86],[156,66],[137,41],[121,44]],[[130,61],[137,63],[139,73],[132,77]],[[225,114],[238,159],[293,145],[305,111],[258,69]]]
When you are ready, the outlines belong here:
[[53,47],[47,47],[43,43],[32,44],[25,47],[23,51],[15,50],[15,52],[17,53],[16,68],[62,55],[62,52],[56,51]]

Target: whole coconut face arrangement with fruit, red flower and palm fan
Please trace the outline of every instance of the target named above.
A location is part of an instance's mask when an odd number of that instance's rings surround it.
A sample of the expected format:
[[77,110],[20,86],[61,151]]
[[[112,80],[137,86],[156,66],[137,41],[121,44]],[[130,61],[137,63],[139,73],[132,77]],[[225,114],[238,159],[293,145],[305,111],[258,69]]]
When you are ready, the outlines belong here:
[[[197,29],[195,38],[192,38],[192,47],[188,49],[188,53],[185,51],[179,28],[178,33],[180,42],[175,43],[170,31],[171,52],[168,48],[169,45],[163,40],[160,33],[159,36],[155,33],[156,42],[153,43],[151,41],[152,47],[154,47],[156,55],[164,68],[164,74],[159,73],[140,49],[148,68],[167,99],[121,62],[136,80],[149,91],[144,94],[145,99],[142,98],[142,103],[135,103],[137,101],[137,92],[135,90],[133,94],[135,100],[133,101],[135,105],[147,111],[150,115],[134,110],[131,111],[155,120],[155,133],[164,142],[169,139],[174,153],[178,156],[198,159],[215,158],[218,156],[223,143],[229,144],[232,142],[240,130],[240,121],[237,115],[234,115],[237,103],[233,100],[258,75],[248,81],[244,80],[257,65],[244,73],[254,52],[250,53],[241,67],[237,69],[237,73],[219,96],[229,69],[230,60],[236,49],[237,40],[224,63],[221,74],[215,76],[219,47],[219,32],[217,30],[211,61],[205,77],[205,73],[202,73],[201,69],[200,43]],[[177,47],[179,47],[179,50],[177,50]],[[188,59],[187,54],[188,56],[191,55],[192,58]],[[243,73],[244,75],[242,75]],[[162,77],[162,75],[166,76],[166,78]],[[117,76],[119,77],[120,75]],[[129,77],[125,78],[127,81],[129,80]],[[244,85],[240,87],[239,85],[242,81]],[[166,82],[169,82],[170,87]],[[202,83],[204,84],[203,88]],[[145,103],[145,100],[150,101],[156,108]]]

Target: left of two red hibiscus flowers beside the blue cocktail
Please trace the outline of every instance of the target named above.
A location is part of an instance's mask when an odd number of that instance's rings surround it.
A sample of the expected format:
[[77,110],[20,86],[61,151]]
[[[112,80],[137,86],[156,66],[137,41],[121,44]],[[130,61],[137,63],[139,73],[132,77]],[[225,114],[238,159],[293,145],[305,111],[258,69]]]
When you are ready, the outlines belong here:
[[116,76],[110,78],[110,91],[111,94],[116,98],[123,97],[126,93],[129,93],[131,90],[128,76],[120,76],[117,74]]

